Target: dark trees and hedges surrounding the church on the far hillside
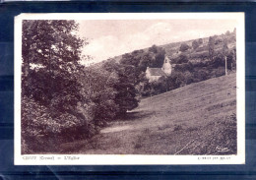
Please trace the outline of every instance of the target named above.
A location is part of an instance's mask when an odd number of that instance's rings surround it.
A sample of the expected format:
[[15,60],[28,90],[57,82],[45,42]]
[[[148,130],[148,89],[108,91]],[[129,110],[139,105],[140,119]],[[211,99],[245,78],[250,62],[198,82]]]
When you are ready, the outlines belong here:
[[[135,80],[137,95],[144,97],[174,90],[191,83],[205,81],[211,78],[223,76],[224,59],[226,58],[227,70],[235,71],[235,48],[228,49],[227,43],[235,42],[234,34],[229,33],[226,38],[222,36],[210,36],[208,42],[203,39],[192,41],[193,50],[189,45],[181,43],[175,56],[171,56],[171,64],[174,66],[171,76],[161,77],[159,81],[149,83],[145,77],[147,67],[160,68],[166,54],[162,47],[153,45],[148,50],[136,50],[122,56],[120,64],[130,65],[133,71],[127,76]],[[171,48],[171,47],[170,47]],[[158,53],[161,56],[158,56]],[[156,57],[160,57],[156,60]],[[196,61],[193,61],[196,60]],[[158,62],[158,63],[155,63]]]

